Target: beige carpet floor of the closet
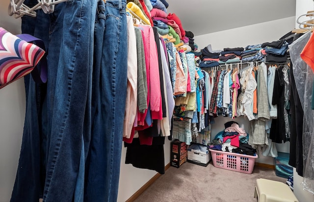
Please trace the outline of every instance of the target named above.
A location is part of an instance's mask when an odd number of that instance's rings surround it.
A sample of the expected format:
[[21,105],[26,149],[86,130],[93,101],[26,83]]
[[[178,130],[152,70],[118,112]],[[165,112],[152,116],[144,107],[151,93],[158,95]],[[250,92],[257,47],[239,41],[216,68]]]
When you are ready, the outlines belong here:
[[185,162],[170,167],[135,202],[257,202],[256,180],[286,183],[273,169],[255,166],[252,174]]

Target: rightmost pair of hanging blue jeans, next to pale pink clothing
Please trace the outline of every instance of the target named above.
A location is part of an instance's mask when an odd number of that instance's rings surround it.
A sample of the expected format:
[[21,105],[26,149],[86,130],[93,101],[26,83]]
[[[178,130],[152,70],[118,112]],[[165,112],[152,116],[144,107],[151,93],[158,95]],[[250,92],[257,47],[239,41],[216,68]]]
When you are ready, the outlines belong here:
[[106,0],[105,19],[99,18],[95,25],[94,71],[100,73],[93,77],[92,136],[84,202],[117,201],[127,90],[127,40],[126,0]]

